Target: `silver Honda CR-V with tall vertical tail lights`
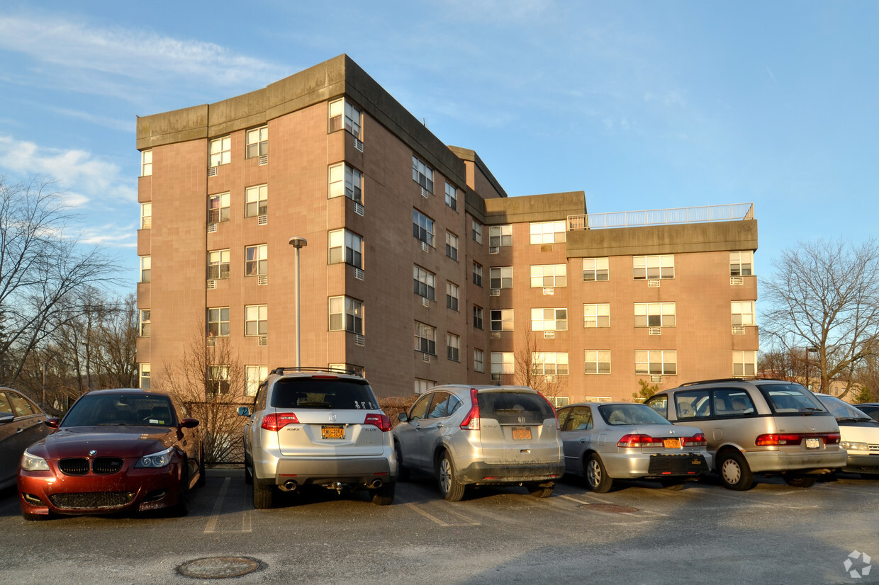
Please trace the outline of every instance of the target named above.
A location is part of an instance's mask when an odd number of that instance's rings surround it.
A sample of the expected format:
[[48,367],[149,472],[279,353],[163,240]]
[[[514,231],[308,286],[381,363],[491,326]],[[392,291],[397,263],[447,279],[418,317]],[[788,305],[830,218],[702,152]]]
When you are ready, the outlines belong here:
[[449,502],[486,485],[548,497],[564,473],[555,410],[527,386],[435,386],[398,418],[399,479],[435,477]]

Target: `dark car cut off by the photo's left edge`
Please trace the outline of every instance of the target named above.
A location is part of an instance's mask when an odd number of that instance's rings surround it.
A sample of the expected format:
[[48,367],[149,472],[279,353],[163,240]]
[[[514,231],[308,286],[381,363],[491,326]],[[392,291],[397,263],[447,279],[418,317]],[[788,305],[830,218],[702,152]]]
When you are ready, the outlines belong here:
[[46,413],[24,394],[0,387],[0,489],[15,485],[28,445],[46,437]]

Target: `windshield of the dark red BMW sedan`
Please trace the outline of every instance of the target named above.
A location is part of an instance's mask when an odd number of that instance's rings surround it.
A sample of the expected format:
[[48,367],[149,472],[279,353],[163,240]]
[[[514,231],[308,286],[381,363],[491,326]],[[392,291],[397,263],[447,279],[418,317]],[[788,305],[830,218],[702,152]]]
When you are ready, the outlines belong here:
[[159,394],[85,394],[70,408],[61,427],[104,424],[177,426],[171,399]]

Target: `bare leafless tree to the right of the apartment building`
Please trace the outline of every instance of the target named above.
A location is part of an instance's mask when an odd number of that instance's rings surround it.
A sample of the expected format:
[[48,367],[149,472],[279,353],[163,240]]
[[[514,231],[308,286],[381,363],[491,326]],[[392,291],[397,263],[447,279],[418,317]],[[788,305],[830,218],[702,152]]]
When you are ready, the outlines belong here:
[[[807,365],[816,362],[821,392],[835,381],[844,386],[840,395],[848,394],[879,338],[879,245],[801,242],[774,268],[763,285],[771,308],[762,333],[774,350],[801,348]],[[812,348],[817,359],[809,355]]]

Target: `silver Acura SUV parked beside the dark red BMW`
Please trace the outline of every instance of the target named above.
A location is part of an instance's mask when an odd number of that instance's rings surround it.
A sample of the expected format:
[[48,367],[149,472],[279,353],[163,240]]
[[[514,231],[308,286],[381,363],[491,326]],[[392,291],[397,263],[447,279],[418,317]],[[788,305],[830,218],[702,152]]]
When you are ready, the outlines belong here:
[[317,486],[368,490],[394,501],[396,458],[390,419],[366,379],[351,372],[277,368],[259,386],[244,428],[244,478],[253,507],[271,508],[277,490]]

